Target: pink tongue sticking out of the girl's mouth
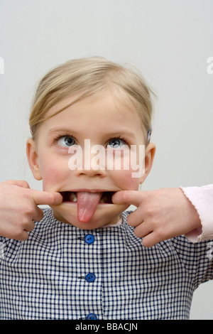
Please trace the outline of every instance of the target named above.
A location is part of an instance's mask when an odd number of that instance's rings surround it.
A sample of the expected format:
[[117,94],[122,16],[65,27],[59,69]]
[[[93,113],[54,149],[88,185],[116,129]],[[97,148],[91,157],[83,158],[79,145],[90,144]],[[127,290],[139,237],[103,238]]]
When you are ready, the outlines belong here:
[[77,192],[77,218],[80,222],[89,222],[92,219],[102,194]]

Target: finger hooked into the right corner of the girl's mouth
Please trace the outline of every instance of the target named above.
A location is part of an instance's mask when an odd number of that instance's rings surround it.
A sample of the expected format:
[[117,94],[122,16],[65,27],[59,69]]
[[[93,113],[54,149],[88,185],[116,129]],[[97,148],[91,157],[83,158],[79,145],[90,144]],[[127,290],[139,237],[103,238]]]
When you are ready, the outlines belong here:
[[111,200],[114,204],[129,204],[138,207],[143,200],[143,193],[138,190],[121,190],[114,193]]

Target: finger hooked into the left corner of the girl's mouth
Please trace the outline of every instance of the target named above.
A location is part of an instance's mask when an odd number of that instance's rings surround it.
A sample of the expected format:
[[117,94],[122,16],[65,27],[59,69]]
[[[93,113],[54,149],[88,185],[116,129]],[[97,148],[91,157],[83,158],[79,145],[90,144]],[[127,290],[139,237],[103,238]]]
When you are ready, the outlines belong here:
[[58,205],[62,203],[62,195],[55,191],[32,190],[35,205]]

